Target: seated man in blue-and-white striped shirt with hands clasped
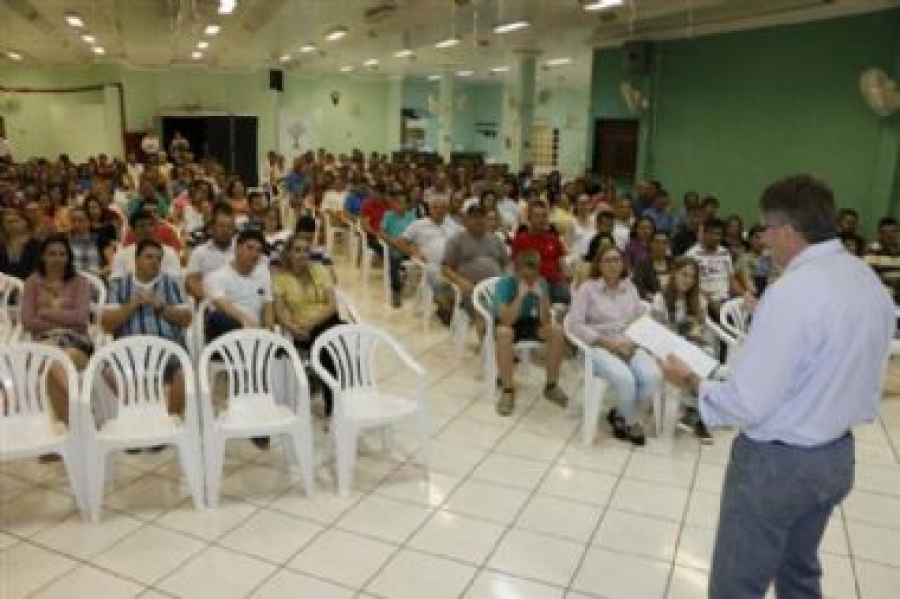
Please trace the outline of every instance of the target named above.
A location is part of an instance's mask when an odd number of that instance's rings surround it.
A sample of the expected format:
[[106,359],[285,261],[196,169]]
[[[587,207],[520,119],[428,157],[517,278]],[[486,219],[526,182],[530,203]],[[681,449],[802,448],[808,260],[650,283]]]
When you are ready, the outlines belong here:
[[[101,321],[116,339],[152,335],[184,346],[191,305],[181,281],[162,272],[162,257],[158,241],[142,239],[135,249],[134,272],[112,280]],[[181,414],[184,377],[177,365],[169,365],[164,378],[171,384],[169,412]]]

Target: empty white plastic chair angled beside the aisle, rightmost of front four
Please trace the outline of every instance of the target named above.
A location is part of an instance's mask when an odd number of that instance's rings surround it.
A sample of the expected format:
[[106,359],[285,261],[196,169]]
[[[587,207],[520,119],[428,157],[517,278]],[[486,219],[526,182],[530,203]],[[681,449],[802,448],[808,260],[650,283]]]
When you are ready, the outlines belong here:
[[[378,387],[379,346],[385,345],[416,381],[412,399],[383,393]],[[327,352],[337,371],[335,378],[322,365]],[[350,491],[356,464],[359,434],[370,428],[381,428],[387,441],[394,422],[414,418],[419,438],[419,459],[428,472],[429,425],[425,393],[426,374],[400,344],[385,331],[369,325],[348,324],[333,327],[322,334],[312,347],[312,365],[319,378],[331,388],[334,396],[332,431],[337,457],[338,492]],[[387,443],[385,443],[387,444]]]

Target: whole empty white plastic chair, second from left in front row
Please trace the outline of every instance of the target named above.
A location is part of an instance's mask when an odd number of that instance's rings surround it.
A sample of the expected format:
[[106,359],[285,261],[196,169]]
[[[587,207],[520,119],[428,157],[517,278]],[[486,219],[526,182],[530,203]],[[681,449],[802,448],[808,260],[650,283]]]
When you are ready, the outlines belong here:
[[[184,414],[168,411],[167,370],[184,377]],[[110,453],[174,445],[194,507],[203,507],[200,421],[194,367],[187,352],[167,339],[136,335],[98,349],[84,371],[81,403],[91,519],[100,519],[103,488],[112,474]],[[101,402],[114,402],[112,410]]]

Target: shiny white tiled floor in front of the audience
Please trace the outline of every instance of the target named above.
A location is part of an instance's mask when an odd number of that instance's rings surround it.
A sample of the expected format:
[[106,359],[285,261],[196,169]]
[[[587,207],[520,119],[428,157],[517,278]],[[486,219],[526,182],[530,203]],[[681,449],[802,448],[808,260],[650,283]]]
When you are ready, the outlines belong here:
[[[352,275],[342,273],[352,281]],[[428,369],[431,477],[401,427],[389,455],[367,438],[356,491],[334,493],[317,423],[319,489],[307,497],[278,447],[229,445],[223,497],[195,511],[170,451],[122,455],[101,524],[75,514],[58,466],[0,465],[0,598],[262,597],[343,599],[690,599],[705,596],[728,432],[644,449],[539,398],[540,376],[510,418],[479,396],[471,350],[446,331],[381,306],[363,314]],[[394,374],[386,385],[408,389]],[[565,386],[577,391],[577,366]],[[895,369],[896,372],[896,369]],[[896,378],[896,377],[895,377]],[[897,385],[893,385],[892,393]],[[900,588],[900,400],[857,431],[856,489],[823,544],[826,595],[893,599]]]

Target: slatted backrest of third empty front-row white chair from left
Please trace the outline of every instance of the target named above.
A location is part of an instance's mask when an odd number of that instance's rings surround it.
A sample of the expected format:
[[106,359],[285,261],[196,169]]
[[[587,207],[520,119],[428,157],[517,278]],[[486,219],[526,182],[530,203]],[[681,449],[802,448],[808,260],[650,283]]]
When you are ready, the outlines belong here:
[[[301,388],[299,394],[280,394],[283,388],[279,383],[284,380],[283,373],[286,358]],[[200,352],[197,366],[200,380],[200,394],[203,397],[204,409],[207,398],[211,398],[213,365],[218,372],[227,376],[228,403],[240,406],[246,402],[256,404],[291,403],[296,410],[296,402],[309,397],[303,363],[293,344],[283,336],[264,329],[240,329],[222,335],[211,341]],[[293,388],[293,387],[292,387]],[[291,395],[291,396],[288,396]],[[204,418],[212,414],[204,414]]]

